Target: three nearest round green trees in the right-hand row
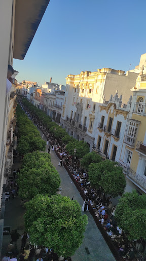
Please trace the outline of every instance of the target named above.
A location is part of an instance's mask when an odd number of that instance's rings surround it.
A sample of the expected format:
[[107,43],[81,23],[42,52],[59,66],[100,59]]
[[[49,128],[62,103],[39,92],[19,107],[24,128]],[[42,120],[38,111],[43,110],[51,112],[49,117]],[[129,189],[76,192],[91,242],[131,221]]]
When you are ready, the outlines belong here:
[[[81,166],[88,170],[90,184],[95,189],[102,187],[105,194],[113,197],[124,193],[126,180],[118,163],[102,161],[98,154],[91,152],[83,157]],[[146,196],[138,195],[136,191],[124,193],[115,218],[129,240],[146,239]]]

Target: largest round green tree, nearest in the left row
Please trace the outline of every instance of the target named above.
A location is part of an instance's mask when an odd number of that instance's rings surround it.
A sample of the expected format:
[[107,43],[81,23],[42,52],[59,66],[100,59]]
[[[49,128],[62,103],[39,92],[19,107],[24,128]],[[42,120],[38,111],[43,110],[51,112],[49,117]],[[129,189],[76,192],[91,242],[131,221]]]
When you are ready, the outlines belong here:
[[25,204],[25,226],[31,243],[71,256],[82,244],[88,217],[77,200],[60,195],[38,195]]

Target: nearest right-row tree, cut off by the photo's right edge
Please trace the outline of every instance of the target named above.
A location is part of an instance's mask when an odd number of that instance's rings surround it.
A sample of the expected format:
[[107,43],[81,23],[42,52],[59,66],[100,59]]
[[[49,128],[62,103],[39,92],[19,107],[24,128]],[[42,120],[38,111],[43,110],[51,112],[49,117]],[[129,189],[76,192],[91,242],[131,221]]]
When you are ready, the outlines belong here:
[[126,192],[119,199],[115,218],[129,240],[146,238],[146,196]]

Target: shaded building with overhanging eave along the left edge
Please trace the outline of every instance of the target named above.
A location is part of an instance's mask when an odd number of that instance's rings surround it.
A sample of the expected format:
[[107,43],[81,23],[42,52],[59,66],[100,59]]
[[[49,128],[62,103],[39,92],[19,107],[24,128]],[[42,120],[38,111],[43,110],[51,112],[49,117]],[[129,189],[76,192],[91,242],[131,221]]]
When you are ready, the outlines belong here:
[[[50,0],[1,1],[0,8],[0,256],[3,242],[5,187],[10,182],[13,157],[16,149],[16,96],[21,85],[15,79],[18,71],[7,79],[8,65],[13,58],[23,60]],[[17,68],[14,68],[17,69]],[[9,84],[10,90],[6,92]],[[22,83],[22,95],[35,83]],[[8,89],[7,89],[8,90]],[[9,224],[8,224],[9,225]]]

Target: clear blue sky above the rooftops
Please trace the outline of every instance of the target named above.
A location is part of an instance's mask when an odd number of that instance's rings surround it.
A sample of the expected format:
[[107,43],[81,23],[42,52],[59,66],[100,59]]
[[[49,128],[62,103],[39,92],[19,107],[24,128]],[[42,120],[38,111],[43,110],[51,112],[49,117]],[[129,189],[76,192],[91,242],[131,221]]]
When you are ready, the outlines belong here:
[[67,74],[134,69],[146,53],[146,1],[50,0],[17,80],[64,84]]

